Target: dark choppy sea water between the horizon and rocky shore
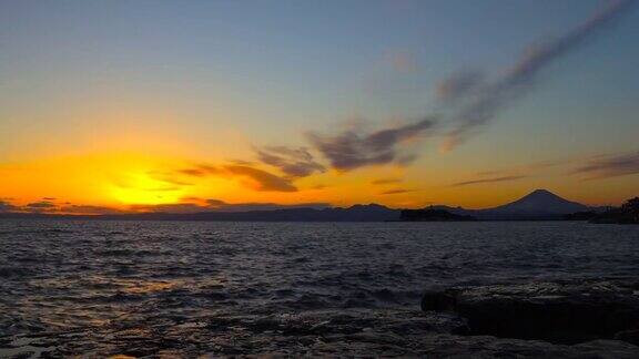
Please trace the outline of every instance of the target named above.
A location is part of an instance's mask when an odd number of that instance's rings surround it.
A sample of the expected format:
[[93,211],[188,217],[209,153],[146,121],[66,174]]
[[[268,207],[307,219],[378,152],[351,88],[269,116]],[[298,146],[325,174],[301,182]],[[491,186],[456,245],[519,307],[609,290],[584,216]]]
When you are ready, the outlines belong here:
[[637,226],[0,220],[0,357],[298,353],[434,286],[638,275]]

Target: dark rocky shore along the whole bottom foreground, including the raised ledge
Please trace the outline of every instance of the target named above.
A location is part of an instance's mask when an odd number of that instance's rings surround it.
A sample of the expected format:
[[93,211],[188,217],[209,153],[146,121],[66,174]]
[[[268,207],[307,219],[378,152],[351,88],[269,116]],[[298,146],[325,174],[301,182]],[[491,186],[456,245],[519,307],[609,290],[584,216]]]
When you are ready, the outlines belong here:
[[639,283],[544,281],[428,291],[422,309],[349,308],[123,319],[0,339],[7,357],[74,355],[638,358]]

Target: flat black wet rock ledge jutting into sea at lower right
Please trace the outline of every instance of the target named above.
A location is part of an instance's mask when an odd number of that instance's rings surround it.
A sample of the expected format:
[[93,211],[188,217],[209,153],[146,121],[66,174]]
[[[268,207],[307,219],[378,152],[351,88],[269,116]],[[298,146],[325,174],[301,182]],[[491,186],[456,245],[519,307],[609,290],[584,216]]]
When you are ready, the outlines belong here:
[[425,311],[458,315],[469,335],[575,345],[618,339],[638,342],[639,283],[540,281],[456,287],[426,293]]

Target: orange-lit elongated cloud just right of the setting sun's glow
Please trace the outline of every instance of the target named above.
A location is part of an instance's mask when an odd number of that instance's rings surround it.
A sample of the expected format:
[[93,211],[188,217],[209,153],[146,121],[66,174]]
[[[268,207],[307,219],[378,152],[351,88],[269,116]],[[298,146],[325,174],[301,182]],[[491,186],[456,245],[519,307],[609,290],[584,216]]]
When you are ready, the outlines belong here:
[[219,176],[229,178],[244,178],[243,185],[261,192],[297,192],[290,178],[283,178],[266,171],[245,165],[212,166],[199,164],[191,168],[179,170],[178,173],[194,177]]

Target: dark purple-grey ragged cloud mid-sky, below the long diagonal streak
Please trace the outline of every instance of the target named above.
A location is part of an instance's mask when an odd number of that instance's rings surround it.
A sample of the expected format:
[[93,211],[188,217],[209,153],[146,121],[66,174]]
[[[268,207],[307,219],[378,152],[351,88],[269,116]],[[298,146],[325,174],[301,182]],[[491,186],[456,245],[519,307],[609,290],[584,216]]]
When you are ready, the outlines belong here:
[[363,129],[346,130],[336,135],[308,133],[307,137],[335,170],[351,171],[369,165],[405,165],[415,160],[400,152],[400,145],[423,136],[435,124],[433,119],[366,133]]

